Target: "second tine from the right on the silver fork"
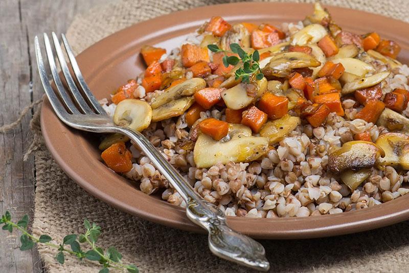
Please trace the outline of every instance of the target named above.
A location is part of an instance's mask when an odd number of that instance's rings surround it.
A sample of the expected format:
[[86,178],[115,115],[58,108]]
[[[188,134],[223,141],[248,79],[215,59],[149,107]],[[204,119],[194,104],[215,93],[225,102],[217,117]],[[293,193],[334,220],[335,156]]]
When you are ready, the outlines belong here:
[[74,83],[74,79],[71,76],[70,70],[68,69],[67,63],[65,62],[64,55],[62,54],[62,49],[58,41],[57,35],[53,32],[52,36],[53,36],[55,51],[57,53],[58,61],[60,62],[62,73],[64,74],[65,81],[68,84],[69,89],[71,93],[73,94],[76,102],[78,103],[80,110],[82,110],[85,114],[94,113],[94,111],[85,102],[80,91],[78,90],[77,86]]

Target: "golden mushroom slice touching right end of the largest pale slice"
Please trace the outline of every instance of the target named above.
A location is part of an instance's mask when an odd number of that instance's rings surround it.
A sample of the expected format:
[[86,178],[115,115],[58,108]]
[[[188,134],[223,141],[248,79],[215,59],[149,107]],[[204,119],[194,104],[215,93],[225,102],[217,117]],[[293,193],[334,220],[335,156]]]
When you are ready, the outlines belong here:
[[301,124],[299,117],[285,115],[280,119],[269,121],[260,130],[260,136],[268,137],[270,145],[282,140]]

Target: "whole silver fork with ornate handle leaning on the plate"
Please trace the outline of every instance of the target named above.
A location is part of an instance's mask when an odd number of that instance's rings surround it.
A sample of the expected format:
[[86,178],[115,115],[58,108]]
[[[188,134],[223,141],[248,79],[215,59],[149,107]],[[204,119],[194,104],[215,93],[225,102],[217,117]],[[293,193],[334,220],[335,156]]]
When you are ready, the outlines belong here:
[[253,269],[267,271],[270,265],[265,258],[264,247],[259,242],[230,229],[226,225],[224,213],[217,206],[203,200],[183,176],[141,133],[126,127],[118,127],[113,123],[112,118],[106,114],[89,90],[70,44],[65,35],[62,34],[63,45],[77,83],[74,81],[65,61],[58,37],[53,32],[52,40],[67,88],[64,87],[59,77],[49,37],[44,33],[43,38],[56,91],[54,91],[48,79],[39,39],[36,36],[34,42],[37,67],[44,91],[46,91],[48,100],[59,119],[67,126],[78,130],[94,133],[119,133],[129,137],[140,147],[180,196],[184,198],[187,204],[186,214],[189,219],[208,231],[209,248],[213,254]]

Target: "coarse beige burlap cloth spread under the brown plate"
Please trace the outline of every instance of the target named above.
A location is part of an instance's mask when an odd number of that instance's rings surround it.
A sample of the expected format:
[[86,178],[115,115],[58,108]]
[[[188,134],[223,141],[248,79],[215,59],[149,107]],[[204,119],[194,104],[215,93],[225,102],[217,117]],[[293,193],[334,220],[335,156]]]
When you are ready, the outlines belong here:
[[[218,0],[124,0],[96,7],[78,15],[67,31],[77,53],[101,38],[135,22],[177,10],[223,3]],[[311,1],[293,1],[311,2]],[[339,5],[380,13],[408,21],[407,0],[328,0],[324,4]],[[306,11],[307,12],[307,11]],[[217,13],[217,12],[216,12]],[[40,88],[37,86],[36,88]],[[225,262],[208,250],[205,235],[190,234],[133,217],[87,194],[66,177],[54,162],[39,128],[36,114],[32,129],[36,182],[35,233],[49,234],[62,240],[69,233],[83,231],[87,217],[101,225],[100,245],[115,245],[124,254],[124,262],[132,262],[142,272],[248,272],[244,267]],[[271,263],[271,271],[331,272],[398,272],[409,270],[409,222],[353,235],[292,241],[261,241]],[[98,265],[66,258],[64,265],[54,259],[56,251],[39,245],[44,266],[50,272],[96,272]]]

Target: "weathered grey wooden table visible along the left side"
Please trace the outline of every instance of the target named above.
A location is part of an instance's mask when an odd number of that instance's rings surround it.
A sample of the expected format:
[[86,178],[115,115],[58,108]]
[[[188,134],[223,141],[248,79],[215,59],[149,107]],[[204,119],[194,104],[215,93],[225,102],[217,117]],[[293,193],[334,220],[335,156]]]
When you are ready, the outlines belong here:
[[[17,119],[22,108],[43,91],[37,75],[34,37],[65,32],[77,13],[109,0],[0,0],[0,126]],[[30,145],[27,114],[13,131],[0,134],[0,214],[33,215],[34,156],[23,162]],[[36,249],[18,249],[19,235],[0,230],[0,272],[41,272]]]

